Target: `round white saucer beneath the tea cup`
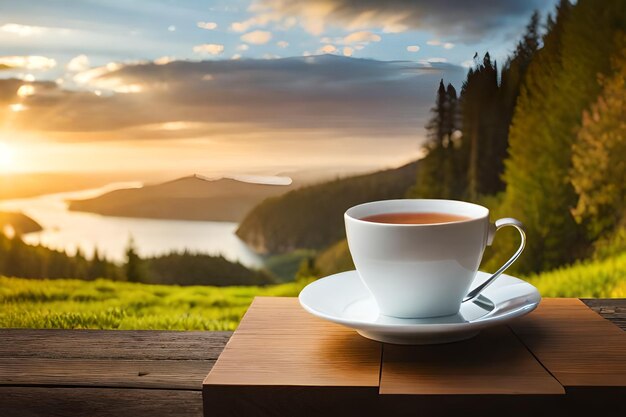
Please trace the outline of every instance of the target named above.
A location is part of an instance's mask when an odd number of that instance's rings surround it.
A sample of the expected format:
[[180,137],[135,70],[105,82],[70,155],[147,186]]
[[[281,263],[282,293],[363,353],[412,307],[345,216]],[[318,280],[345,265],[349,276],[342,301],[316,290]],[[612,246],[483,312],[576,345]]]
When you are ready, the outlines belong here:
[[[471,288],[489,276],[478,272]],[[463,303],[454,316],[400,319],[380,315],[357,271],[348,271],[312,282],[300,292],[299,299],[309,313],[355,329],[368,339],[421,345],[469,339],[481,329],[530,313],[541,296],[531,284],[503,274],[474,301]]]

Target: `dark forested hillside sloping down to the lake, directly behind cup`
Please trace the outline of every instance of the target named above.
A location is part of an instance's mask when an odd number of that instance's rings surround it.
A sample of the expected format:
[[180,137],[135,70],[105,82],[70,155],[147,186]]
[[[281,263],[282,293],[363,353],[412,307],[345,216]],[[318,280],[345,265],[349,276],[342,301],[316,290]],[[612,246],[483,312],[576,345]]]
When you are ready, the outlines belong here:
[[269,198],[245,217],[237,235],[259,253],[324,248],[344,237],[346,209],[367,201],[404,197],[415,183],[417,165],[412,162]]

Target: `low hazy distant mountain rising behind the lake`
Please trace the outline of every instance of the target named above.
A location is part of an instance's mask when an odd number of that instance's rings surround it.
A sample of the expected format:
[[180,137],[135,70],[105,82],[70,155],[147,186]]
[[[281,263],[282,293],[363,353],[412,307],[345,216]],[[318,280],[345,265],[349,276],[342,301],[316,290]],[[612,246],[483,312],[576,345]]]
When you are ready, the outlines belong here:
[[199,176],[142,188],[116,190],[88,200],[70,201],[70,210],[105,216],[151,219],[238,222],[267,197],[283,194],[292,185],[267,185]]

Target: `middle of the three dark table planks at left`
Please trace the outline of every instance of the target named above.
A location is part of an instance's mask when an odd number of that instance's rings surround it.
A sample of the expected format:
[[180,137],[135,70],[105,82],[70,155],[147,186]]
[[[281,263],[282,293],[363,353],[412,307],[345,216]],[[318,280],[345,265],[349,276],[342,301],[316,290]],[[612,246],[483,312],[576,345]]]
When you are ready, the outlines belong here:
[[215,361],[0,358],[0,385],[202,389]]

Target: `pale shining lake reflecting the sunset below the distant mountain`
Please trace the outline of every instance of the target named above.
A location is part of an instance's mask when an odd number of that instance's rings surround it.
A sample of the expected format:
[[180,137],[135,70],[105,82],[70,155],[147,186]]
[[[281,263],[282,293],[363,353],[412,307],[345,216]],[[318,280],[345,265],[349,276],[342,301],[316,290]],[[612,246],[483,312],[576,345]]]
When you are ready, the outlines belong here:
[[263,258],[236,235],[237,223],[108,217],[68,210],[67,200],[93,198],[137,182],[113,183],[100,188],[0,201],[0,211],[21,211],[43,227],[23,236],[29,244],[42,244],[70,254],[80,249],[91,257],[97,248],[109,260],[123,262],[130,237],[141,256],[189,249],[258,267]]

